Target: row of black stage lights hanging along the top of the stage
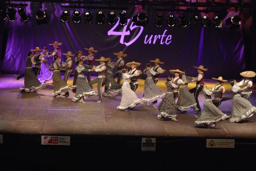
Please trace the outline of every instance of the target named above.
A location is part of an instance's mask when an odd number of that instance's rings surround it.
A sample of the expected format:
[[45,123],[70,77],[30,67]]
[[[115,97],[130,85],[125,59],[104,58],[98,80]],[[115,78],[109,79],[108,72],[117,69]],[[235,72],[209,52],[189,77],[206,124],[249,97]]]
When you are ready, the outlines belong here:
[[[23,8],[18,8],[18,14],[21,18],[22,22],[26,22],[29,20],[29,16],[26,15],[26,11]],[[7,10],[7,13],[4,12],[3,10],[0,10],[0,20],[6,20],[9,17],[10,22],[14,22],[16,18],[16,10],[13,7],[9,7]],[[38,24],[45,24],[47,23],[46,21],[47,14],[46,12],[42,11],[41,9],[37,10],[36,12],[36,19]],[[63,11],[61,16],[61,22],[69,22],[70,21],[70,12],[68,11]],[[121,26],[125,26],[127,24],[127,16],[126,12],[122,11],[118,14],[118,18],[120,19],[119,24]],[[72,20],[74,23],[81,23],[82,21],[82,15],[80,11],[75,10],[73,15],[72,15]],[[99,11],[96,14],[96,24],[104,24],[105,21],[105,15],[102,11]],[[108,24],[113,25],[116,24],[117,17],[115,12],[110,11],[108,13]],[[134,16],[132,18],[133,22],[136,22],[137,26],[146,26],[146,23],[148,23],[148,16],[146,13],[141,12]],[[189,20],[187,20],[186,16],[183,14],[179,15],[178,18],[179,21],[179,27],[181,28],[186,28],[188,25],[190,26],[196,26],[199,22],[199,17],[198,16],[192,16]],[[92,24],[93,23],[93,16],[90,12],[84,13],[84,23],[86,24]],[[174,14],[170,14],[167,17],[166,20],[166,25],[168,27],[174,27],[176,25],[176,18]],[[202,17],[202,26],[203,27],[210,27],[211,25],[211,20],[207,16]],[[237,16],[232,16],[226,20],[226,25],[232,25],[231,28],[238,29],[240,28],[241,25],[241,17],[239,15]],[[155,21],[155,26],[157,27],[162,27],[164,26],[164,16],[162,13],[157,14],[156,16],[156,21]],[[221,28],[222,27],[222,20],[218,18],[218,16],[215,16],[213,19],[213,26],[216,28]]]

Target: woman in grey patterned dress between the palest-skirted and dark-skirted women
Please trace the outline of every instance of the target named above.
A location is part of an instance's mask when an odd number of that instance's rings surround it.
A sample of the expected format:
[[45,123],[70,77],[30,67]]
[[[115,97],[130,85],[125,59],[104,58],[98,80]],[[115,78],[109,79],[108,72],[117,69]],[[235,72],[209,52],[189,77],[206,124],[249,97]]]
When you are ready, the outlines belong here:
[[142,96],[142,102],[154,102],[158,98],[164,98],[164,93],[160,90],[158,86],[154,83],[152,75],[157,75],[158,73],[154,71],[150,63],[146,64],[146,69],[143,73],[147,76],[144,83],[144,94]]

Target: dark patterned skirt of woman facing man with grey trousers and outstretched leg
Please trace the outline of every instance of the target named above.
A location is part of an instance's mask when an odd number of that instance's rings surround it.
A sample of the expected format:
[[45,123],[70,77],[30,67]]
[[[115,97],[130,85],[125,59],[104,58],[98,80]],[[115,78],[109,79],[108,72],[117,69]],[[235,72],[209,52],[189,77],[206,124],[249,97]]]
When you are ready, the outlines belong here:
[[91,86],[86,82],[84,77],[77,77],[76,79],[76,94],[73,97],[74,102],[78,102],[81,97],[86,98],[87,96],[95,94]]

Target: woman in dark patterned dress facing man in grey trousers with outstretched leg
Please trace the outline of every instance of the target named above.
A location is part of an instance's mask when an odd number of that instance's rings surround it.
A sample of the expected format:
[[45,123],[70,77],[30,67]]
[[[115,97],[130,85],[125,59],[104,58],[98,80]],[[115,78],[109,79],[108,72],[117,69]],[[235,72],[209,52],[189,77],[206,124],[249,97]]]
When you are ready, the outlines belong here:
[[95,94],[95,91],[92,90],[91,86],[86,82],[86,79],[84,77],[84,72],[87,71],[94,71],[95,69],[92,69],[93,66],[88,66],[88,65],[83,65],[83,60],[78,59],[77,64],[78,66],[76,67],[76,71],[78,72],[78,77],[76,80],[77,83],[77,88],[76,88],[76,94],[73,97],[74,102],[84,102],[84,97],[86,98],[87,96]]

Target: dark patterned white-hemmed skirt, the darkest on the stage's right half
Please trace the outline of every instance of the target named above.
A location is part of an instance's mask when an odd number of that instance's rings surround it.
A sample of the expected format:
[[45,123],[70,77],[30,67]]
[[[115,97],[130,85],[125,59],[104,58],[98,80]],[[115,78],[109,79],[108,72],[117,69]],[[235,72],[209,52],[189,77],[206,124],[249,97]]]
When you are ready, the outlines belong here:
[[173,93],[167,92],[162,100],[162,106],[159,110],[160,113],[157,115],[157,118],[159,120],[171,120],[172,118],[176,118],[177,115],[175,110],[176,104]]

